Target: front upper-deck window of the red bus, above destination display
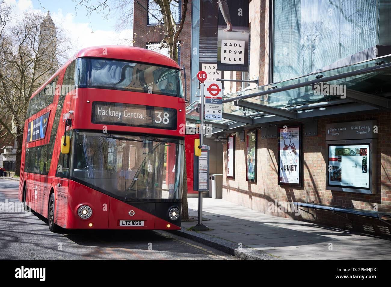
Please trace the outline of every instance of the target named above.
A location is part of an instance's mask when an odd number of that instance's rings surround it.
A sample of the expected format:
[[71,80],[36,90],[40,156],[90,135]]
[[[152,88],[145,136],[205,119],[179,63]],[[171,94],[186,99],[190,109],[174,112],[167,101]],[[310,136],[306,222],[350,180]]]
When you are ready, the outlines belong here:
[[[164,94],[183,98],[179,69],[153,66],[143,63],[106,59],[81,59],[79,65],[88,70],[88,87],[120,89],[150,94]],[[79,85],[83,79],[79,76]]]

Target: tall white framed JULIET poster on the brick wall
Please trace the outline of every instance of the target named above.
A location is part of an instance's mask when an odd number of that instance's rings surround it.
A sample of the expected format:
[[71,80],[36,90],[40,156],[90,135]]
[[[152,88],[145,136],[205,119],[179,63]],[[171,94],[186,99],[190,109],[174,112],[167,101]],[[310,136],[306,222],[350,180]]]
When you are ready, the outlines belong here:
[[278,184],[303,184],[301,126],[278,128]]

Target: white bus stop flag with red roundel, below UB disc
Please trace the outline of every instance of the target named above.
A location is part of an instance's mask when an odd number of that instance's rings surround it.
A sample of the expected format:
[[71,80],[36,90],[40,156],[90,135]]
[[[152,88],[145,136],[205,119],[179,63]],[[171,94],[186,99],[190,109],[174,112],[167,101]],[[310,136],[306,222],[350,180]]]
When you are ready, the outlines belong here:
[[222,83],[205,82],[205,119],[222,119]]

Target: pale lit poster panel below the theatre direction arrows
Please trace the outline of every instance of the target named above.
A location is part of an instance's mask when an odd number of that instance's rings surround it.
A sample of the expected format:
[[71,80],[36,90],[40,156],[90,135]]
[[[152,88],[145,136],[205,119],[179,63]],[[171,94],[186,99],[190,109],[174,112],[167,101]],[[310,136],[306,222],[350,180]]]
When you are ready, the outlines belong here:
[[369,189],[369,144],[328,146],[328,184]]

